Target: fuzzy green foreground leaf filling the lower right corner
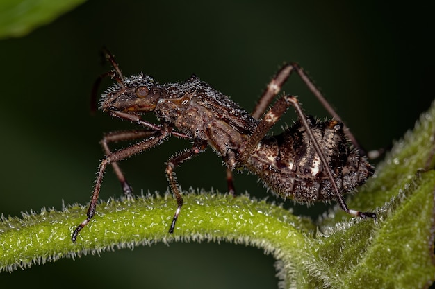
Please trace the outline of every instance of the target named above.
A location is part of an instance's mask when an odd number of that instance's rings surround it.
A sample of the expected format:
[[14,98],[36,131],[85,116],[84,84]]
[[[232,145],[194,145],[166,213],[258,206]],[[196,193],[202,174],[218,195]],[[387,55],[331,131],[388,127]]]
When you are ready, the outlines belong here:
[[331,288],[423,288],[432,283],[434,194],[431,170],[411,179],[381,207],[377,224],[353,219],[329,227],[319,238],[316,283]]

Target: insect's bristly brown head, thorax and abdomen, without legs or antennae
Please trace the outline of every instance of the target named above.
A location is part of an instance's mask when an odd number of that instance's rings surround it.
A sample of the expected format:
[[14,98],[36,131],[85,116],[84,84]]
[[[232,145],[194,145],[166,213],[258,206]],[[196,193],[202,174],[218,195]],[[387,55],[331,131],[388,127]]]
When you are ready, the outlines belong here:
[[308,119],[310,128],[328,164],[322,164],[299,121],[277,136],[263,138],[246,164],[238,163],[246,139],[260,121],[196,76],[167,84],[147,75],[131,76],[106,90],[100,108],[129,114],[154,112],[175,130],[206,142],[229,168],[250,170],[274,193],[297,202],[334,200],[325,166],[341,193],[352,191],[373,174],[366,157],[345,137],[342,123],[312,118]]

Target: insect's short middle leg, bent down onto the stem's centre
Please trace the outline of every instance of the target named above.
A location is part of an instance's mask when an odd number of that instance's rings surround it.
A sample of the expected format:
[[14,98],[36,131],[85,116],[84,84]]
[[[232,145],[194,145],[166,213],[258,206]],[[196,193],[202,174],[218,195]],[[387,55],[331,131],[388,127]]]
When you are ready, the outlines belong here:
[[174,175],[174,169],[177,168],[183,161],[187,161],[188,159],[191,159],[192,157],[195,157],[199,154],[199,152],[204,152],[206,149],[207,143],[205,141],[202,141],[201,143],[195,143],[194,146],[188,150],[182,150],[181,152],[178,152],[174,157],[171,157],[166,164],[166,176],[167,180],[170,184],[171,191],[174,193],[175,198],[177,199],[177,210],[174,213],[174,218],[172,218],[171,226],[169,229],[169,233],[174,233],[175,229],[175,223],[177,222],[177,219],[181,212],[181,207],[183,207],[183,197],[181,196],[181,193],[179,191],[177,180],[175,179]]

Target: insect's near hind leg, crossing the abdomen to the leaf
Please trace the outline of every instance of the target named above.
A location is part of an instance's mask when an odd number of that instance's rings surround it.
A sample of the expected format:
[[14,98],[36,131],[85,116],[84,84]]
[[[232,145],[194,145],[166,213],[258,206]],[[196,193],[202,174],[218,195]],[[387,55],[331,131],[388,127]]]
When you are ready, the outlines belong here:
[[261,123],[259,123],[256,130],[254,130],[252,137],[250,137],[247,143],[245,144],[245,148],[243,149],[243,152],[240,154],[239,164],[241,165],[246,164],[247,159],[252,154],[252,152],[258,145],[258,143],[261,141],[261,139],[263,139],[263,137],[270,130],[270,128],[272,128],[272,125],[274,125],[274,123],[277,123],[277,121],[281,118],[282,114],[286,112],[286,109],[289,106],[293,106],[295,108],[299,120],[302,122],[302,125],[304,125],[306,133],[309,135],[309,138],[313,143],[315,151],[320,157],[320,161],[325,168],[325,171],[329,178],[329,182],[331,183],[334,194],[336,195],[336,201],[340,205],[341,209],[343,209],[343,211],[349,213],[352,216],[359,216],[361,218],[367,218],[367,217],[376,218],[375,213],[355,211],[347,207],[345,199],[343,198],[343,195],[341,194],[340,190],[338,189],[338,186],[336,185],[334,175],[332,175],[331,172],[331,168],[329,168],[328,166],[326,157],[323,154],[318,144],[318,141],[315,139],[313,131],[311,130],[310,125],[306,120],[306,116],[304,115],[304,112],[302,112],[302,108],[300,107],[299,102],[297,101],[295,96],[283,96],[279,98],[279,100],[277,100],[277,103],[275,103],[272,106],[272,108],[265,114]]

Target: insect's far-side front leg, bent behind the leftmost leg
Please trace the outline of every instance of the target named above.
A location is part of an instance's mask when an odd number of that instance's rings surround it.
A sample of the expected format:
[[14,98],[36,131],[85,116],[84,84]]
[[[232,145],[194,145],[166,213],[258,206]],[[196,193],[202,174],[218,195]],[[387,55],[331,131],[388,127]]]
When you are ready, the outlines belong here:
[[[103,139],[101,139],[101,146],[104,149],[106,156],[112,155],[108,143],[116,143],[118,141],[131,141],[133,139],[149,139],[149,137],[156,136],[159,132],[157,130],[131,130],[126,132],[110,132],[105,134]],[[122,191],[127,198],[133,198],[133,189],[131,189],[130,184],[126,181],[120,166],[116,161],[110,163],[113,167],[117,179],[121,183]]]

